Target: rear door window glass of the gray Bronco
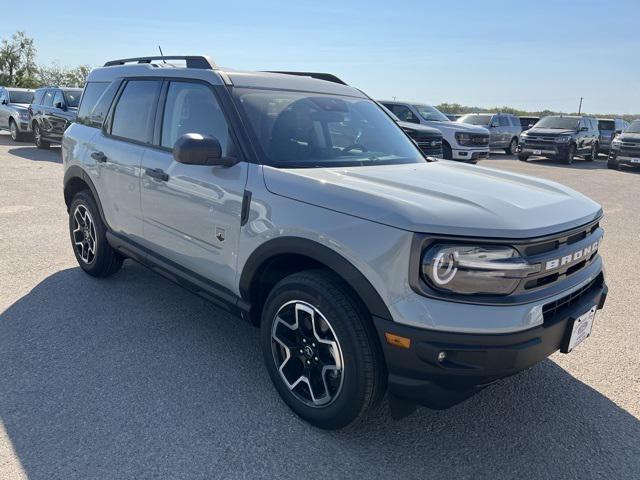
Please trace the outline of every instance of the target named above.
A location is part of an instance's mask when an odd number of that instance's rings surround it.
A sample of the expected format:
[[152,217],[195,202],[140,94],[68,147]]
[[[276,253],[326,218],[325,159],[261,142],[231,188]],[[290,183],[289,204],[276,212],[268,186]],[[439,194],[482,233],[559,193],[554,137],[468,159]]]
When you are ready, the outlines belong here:
[[158,80],[127,82],[113,113],[111,134],[137,142],[149,142],[161,85],[162,82]]

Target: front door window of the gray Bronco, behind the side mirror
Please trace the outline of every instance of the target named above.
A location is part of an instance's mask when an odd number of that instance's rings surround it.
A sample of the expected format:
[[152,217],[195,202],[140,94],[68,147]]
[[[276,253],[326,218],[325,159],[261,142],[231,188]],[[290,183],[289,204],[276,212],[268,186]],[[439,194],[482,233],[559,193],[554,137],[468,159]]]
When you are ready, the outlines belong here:
[[163,147],[172,148],[185,133],[201,133],[218,139],[227,156],[229,127],[209,87],[199,83],[171,82],[162,119]]

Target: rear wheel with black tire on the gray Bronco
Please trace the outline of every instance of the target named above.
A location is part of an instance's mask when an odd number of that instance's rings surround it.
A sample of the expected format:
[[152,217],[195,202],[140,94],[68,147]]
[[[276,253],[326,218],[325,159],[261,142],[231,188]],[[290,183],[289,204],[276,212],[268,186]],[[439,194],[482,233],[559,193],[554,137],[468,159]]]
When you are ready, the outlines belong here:
[[[86,221],[88,218],[90,222]],[[84,219],[84,222],[80,221]],[[83,225],[86,228],[81,228]],[[93,228],[87,225],[93,225]],[[80,229],[80,231],[79,231]],[[86,233],[88,232],[88,233]],[[86,233],[86,234],[85,234]],[[94,277],[108,277],[117,272],[124,258],[107,242],[107,229],[91,193],[83,190],[73,197],[69,208],[69,235],[76,260],[85,272]],[[91,241],[91,238],[93,241]],[[83,245],[78,241],[83,240]],[[84,241],[87,241],[86,245]],[[91,249],[91,244],[93,248]]]

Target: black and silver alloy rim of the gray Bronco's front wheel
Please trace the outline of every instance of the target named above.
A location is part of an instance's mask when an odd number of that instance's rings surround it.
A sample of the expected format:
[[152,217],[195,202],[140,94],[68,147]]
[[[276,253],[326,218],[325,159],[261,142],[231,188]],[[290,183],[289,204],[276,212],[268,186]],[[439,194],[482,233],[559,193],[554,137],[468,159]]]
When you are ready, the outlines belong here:
[[344,360],[327,318],[302,300],[285,303],[271,328],[271,351],[286,387],[310,407],[326,407],[342,390]]

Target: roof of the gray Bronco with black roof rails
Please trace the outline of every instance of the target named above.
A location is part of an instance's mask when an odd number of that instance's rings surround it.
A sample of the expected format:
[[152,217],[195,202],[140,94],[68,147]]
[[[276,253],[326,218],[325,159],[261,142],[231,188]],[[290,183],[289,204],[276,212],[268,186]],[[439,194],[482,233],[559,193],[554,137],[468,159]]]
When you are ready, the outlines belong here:
[[[164,60],[185,60],[186,64],[190,66],[178,66]],[[87,81],[111,82],[123,77],[192,78],[209,82],[212,85],[229,84],[234,87],[297,90],[367,98],[358,89],[335,81],[307,77],[301,75],[300,72],[287,74],[219,68],[209,57],[204,56],[140,57],[112,60],[105,63],[104,67],[92,70]]]

